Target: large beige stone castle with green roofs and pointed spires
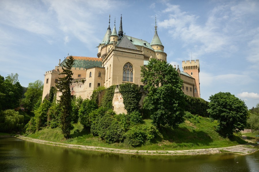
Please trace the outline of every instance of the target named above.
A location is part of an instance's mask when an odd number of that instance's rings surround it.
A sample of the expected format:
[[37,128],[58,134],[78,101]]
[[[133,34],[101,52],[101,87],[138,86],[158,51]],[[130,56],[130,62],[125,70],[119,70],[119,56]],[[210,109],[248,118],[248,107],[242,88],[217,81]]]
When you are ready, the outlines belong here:
[[[74,79],[70,85],[71,94],[86,99],[90,98],[94,89],[99,86],[108,88],[111,85],[123,83],[143,85],[140,66],[147,65],[151,58],[166,61],[167,54],[157,34],[156,25],[153,39],[151,43],[148,43],[123,34],[121,16],[118,33],[115,24],[111,31],[109,19],[108,29],[98,45],[97,57],[73,57],[75,64],[72,68]],[[66,59],[61,63],[59,60],[54,70],[45,72],[42,99],[49,93],[52,86],[56,87]],[[182,91],[186,95],[200,97],[199,60],[182,61],[182,69],[183,71],[179,69],[179,66],[176,69],[184,81]]]

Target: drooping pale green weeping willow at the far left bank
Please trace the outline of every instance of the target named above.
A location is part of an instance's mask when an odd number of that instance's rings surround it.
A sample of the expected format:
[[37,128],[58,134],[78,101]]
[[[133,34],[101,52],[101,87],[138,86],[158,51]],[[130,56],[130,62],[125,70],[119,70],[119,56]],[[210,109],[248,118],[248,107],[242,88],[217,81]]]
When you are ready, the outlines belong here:
[[24,126],[23,120],[24,116],[14,110],[0,111],[0,132],[21,131]]

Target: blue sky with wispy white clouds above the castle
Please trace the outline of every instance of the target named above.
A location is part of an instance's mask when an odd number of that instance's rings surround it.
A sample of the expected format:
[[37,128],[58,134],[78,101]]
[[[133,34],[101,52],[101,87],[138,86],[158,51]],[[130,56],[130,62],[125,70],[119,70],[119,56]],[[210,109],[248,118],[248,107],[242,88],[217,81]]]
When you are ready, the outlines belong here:
[[259,103],[259,1],[0,1],[0,74],[44,79],[59,59],[97,57],[98,44],[122,14],[126,35],[151,42],[155,16],[167,61],[199,59],[201,98],[220,91]]

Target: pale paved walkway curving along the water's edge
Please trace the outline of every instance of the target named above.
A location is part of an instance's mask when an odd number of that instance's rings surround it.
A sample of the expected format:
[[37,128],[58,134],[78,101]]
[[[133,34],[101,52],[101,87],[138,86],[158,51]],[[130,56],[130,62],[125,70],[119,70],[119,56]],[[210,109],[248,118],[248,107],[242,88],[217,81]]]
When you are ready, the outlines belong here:
[[233,152],[237,154],[250,154],[258,149],[253,147],[258,145],[254,143],[247,143],[244,145],[235,145],[230,147],[218,147],[218,148],[207,148],[207,149],[191,149],[191,150],[131,150],[131,149],[115,149],[108,147],[97,147],[97,146],[84,146],[84,145],[72,145],[67,143],[57,143],[52,141],[45,141],[39,139],[33,139],[30,137],[19,136],[19,139],[26,141],[32,141],[36,143],[42,143],[46,145],[54,145],[61,147],[71,147],[77,149],[96,150],[103,152],[123,153],[123,154],[147,154],[147,155],[196,155],[196,154],[217,154],[221,152]]

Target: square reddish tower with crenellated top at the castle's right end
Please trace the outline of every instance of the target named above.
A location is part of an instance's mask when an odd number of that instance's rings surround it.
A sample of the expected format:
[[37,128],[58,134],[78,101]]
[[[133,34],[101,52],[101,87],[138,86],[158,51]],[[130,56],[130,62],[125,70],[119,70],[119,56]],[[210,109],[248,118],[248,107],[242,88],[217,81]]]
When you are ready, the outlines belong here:
[[195,78],[195,84],[193,87],[194,91],[194,97],[201,97],[200,94],[200,81],[199,81],[199,72],[200,72],[200,63],[199,60],[189,60],[182,61],[182,69],[184,72],[191,75],[193,78]]

